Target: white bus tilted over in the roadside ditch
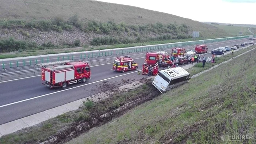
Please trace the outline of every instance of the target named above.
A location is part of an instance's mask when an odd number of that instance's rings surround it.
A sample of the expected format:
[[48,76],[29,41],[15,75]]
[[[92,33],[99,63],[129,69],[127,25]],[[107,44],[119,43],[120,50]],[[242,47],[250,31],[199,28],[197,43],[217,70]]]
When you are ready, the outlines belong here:
[[182,67],[169,68],[160,71],[152,84],[163,93],[186,83],[190,78],[190,74]]

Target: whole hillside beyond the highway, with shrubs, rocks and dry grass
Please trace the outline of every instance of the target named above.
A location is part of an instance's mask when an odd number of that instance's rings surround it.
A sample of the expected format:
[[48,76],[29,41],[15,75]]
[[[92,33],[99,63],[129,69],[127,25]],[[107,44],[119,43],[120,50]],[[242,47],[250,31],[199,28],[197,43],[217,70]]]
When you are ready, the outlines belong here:
[[[1,0],[1,52],[230,37],[179,16],[91,0]],[[9,39],[12,38],[12,39]]]

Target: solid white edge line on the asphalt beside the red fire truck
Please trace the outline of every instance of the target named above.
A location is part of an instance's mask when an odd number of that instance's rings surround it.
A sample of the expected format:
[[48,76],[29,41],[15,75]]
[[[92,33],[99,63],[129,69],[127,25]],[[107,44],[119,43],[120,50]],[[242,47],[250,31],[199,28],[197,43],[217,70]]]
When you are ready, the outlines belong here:
[[[138,70],[138,71],[142,71],[142,70]],[[9,103],[9,104],[6,104],[6,105],[2,105],[2,106],[0,106],[0,108],[1,108],[1,107],[5,107],[5,106],[14,105],[14,104],[16,104],[16,103],[21,103],[21,102],[29,101],[29,100],[32,100],[32,99],[37,99],[37,98],[41,98],[41,97],[44,97],[44,96],[48,96],[48,95],[52,95],[52,94],[56,94],[56,93],[59,93],[59,92],[63,92],[63,91],[67,91],[67,90],[71,90],[71,89],[74,89],[74,88],[87,86],[87,85],[89,85],[89,84],[94,84],[94,83],[102,82],[102,81],[105,81],[105,80],[114,79],[114,78],[116,78],[116,77],[120,77],[120,76],[124,76],[124,75],[129,75],[129,74],[131,74],[131,73],[135,73],[135,72],[138,72],[138,71],[134,71],[134,72],[130,72],[130,73],[125,73],[125,74],[123,74],[123,75],[118,75],[118,76],[114,76],[114,77],[109,77],[109,78],[107,78],[107,79],[98,80],[98,81],[96,81],[96,82],[91,82],[91,83],[83,84],[83,85],[80,85],[80,86],[67,88],[67,89],[65,89],[65,90],[60,90],[60,91],[52,92],[52,93],[49,93],[49,94],[36,96],[36,97],[34,97],[34,98],[24,99],[24,100],[22,100],[22,101],[18,101],[18,102]]]

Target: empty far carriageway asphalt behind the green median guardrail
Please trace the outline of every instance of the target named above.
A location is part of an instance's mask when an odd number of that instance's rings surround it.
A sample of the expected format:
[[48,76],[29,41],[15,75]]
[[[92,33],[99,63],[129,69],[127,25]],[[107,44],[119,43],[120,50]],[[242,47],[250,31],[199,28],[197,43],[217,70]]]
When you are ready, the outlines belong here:
[[[243,42],[245,40],[246,39],[242,39],[242,41],[241,40],[230,40],[230,41],[241,41],[241,42]],[[212,44],[214,44],[214,43],[212,43]],[[238,43],[238,44],[240,44],[240,43]],[[133,51],[135,51],[136,48],[129,48],[129,49],[133,49]],[[125,49],[123,49],[123,53],[129,54],[128,53],[129,51],[127,49],[128,48],[126,48],[126,52],[125,52]],[[74,60],[79,60],[81,58],[81,54],[82,54],[82,58],[84,58],[84,54],[86,54],[86,60],[91,61],[91,60],[96,60],[96,54],[97,54],[97,59],[103,59],[102,54],[103,54],[103,56],[105,56],[105,52],[106,52],[106,57],[109,57],[110,54],[112,54],[112,56],[115,56],[117,52],[119,54],[119,52],[121,52],[122,50],[120,51],[120,50],[110,49],[110,50],[99,50],[99,51],[96,50],[96,51],[95,52],[94,51],[83,52],[83,53],[78,53],[78,54],[65,54],[65,55],[61,54],[59,56],[59,60],[60,61],[62,61],[62,60],[72,60],[72,56],[74,56],[73,57]],[[132,52],[132,50],[131,50],[131,52]],[[88,54],[90,54],[90,58],[88,57],[89,56]],[[132,53],[130,53],[130,54],[132,54]],[[25,65],[30,65],[30,60],[31,60],[31,65],[35,65],[36,63],[45,63],[45,62],[48,62],[48,61],[49,62],[58,61],[58,59],[57,59],[58,56],[56,54],[52,54],[52,55],[53,56],[48,57],[49,59],[47,59],[47,57],[40,57],[40,58],[31,58],[31,59],[23,59],[23,60],[25,62]],[[87,58],[89,58],[89,59],[87,59]],[[43,61],[42,61],[42,59],[43,59]],[[19,63],[19,67],[22,67],[23,66],[23,60],[16,60],[16,58],[14,58],[11,61],[4,61],[4,68],[5,69],[10,68],[10,62],[12,62],[12,67],[16,67],[17,61]],[[37,60],[37,62],[36,62],[36,60]],[[2,62],[0,63],[0,68],[1,69],[3,68]]]

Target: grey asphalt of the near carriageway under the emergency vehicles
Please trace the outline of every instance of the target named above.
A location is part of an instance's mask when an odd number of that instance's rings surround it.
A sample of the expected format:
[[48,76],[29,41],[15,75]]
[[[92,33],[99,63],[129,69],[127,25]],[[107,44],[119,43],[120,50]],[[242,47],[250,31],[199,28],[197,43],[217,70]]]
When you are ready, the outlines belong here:
[[[249,42],[249,40],[209,45],[206,56],[212,56],[210,52],[213,48],[232,46],[241,42]],[[135,61],[139,64],[138,70],[141,70],[144,57],[136,58]],[[50,89],[44,86],[41,83],[41,76],[0,83],[0,124],[122,86],[126,84],[124,82],[126,80],[133,82],[147,77],[138,75],[136,71],[115,72],[112,66],[113,64],[106,64],[92,67],[90,80],[85,84],[72,84],[66,90]]]

